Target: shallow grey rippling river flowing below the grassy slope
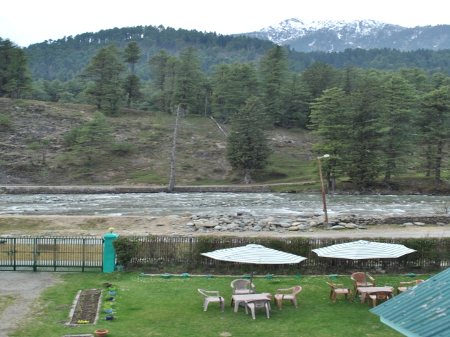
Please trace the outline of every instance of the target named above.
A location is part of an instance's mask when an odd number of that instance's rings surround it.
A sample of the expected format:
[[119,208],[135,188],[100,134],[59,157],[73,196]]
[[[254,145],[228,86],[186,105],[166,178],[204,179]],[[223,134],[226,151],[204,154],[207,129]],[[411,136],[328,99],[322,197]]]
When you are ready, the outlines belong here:
[[[327,194],[328,214],[359,216],[444,213],[449,196]],[[168,216],[323,213],[321,194],[283,193],[136,193],[136,194],[0,194],[2,215]]]

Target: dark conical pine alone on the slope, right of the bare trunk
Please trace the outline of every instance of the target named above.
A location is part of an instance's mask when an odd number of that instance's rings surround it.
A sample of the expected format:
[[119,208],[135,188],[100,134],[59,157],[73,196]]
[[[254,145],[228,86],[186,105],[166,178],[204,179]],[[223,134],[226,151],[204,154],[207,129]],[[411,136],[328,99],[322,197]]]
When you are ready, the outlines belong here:
[[231,119],[226,159],[234,169],[243,172],[246,184],[252,183],[252,171],[269,164],[271,149],[264,135],[269,119],[264,111],[259,98],[252,97]]

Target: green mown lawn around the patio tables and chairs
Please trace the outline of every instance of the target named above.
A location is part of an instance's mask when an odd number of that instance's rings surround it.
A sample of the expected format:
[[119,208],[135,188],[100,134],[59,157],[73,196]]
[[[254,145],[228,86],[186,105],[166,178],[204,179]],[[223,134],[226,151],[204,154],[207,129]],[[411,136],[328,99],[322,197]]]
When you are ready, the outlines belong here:
[[[338,296],[336,303],[328,299],[326,282],[343,283],[352,289],[349,276],[255,278],[257,293],[276,293],[276,289],[300,285],[298,309],[283,302],[278,310],[272,302],[270,319],[265,310],[256,310],[256,319],[245,315],[244,308],[233,312],[230,283],[239,277],[140,277],[139,273],[59,274],[60,282],[45,291],[34,305],[34,313],[13,336],[56,337],[64,334],[93,333],[108,329],[108,337],[133,336],[402,336],[380,322],[359,298],[350,303]],[[32,274],[30,274],[32,277]],[[418,278],[417,276],[413,279]],[[428,278],[422,276],[421,278]],[[397,286],[410,281],[404,276],[376,276],[377,286]],[[115,319],[106,321],[101,310],[95,325],[67,326],[70,305],[79,289],[103,287],[103,282],[117,286],[113,308]],[[197,289],[220,291],[226,300],[225,312],[219,303],[210,303],[203,312],[203,298]],[[107,291],[103,291],[103,298]],[[103,306],[101,307],[103,309]]]

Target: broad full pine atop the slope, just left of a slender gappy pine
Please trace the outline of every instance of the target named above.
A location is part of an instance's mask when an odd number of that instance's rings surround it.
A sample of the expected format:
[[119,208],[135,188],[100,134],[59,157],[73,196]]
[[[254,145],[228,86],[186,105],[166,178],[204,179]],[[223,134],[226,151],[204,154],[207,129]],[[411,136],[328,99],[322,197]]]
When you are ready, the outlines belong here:
[[85,79],[91,79],[93,86],[88,86],[84,91],[88,97],[94,100],[98,109],[108,116],[119,112],[119,103],[122,98],[120,87],[120,74],[125,70],[120,61],[120,51],[114,44],[103,47],[96,55],[92,56],[90,64],[84,68],[84,74],[79,75]]

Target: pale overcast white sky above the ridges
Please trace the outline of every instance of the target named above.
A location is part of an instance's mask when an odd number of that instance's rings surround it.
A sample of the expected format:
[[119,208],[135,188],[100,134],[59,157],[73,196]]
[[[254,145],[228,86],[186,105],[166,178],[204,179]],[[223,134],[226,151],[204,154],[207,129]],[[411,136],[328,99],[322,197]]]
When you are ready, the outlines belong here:
[[[445,5],[446,4],[446,5]],[[113,27],[163,25],[218,34],[253,32],[290,18],[380,20],[404,27],[450,25],[446,0],[22,0],[5,1],[0,37],[19,46]]]

